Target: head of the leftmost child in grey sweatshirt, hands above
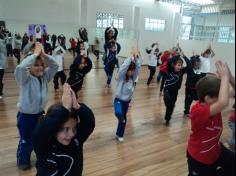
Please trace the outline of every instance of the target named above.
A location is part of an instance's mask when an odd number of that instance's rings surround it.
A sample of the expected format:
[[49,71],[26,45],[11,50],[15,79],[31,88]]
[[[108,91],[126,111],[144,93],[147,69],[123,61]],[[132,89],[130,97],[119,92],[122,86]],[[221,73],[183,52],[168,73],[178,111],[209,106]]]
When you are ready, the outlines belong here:
[[43,76],[44,69],[45,69],[44,61],[40,56],[38,56],[36,61],[34,62],[34,64],[30,68],[30,73],[33,76],[40,78]]

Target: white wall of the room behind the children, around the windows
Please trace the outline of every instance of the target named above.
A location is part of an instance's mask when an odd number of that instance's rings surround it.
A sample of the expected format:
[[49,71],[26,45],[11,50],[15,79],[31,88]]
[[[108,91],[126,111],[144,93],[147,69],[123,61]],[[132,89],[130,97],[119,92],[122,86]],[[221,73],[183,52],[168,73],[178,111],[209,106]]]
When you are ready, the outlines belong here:
[[[66,3],[65,3],[66,2]],[[44,4],[44,6],[42,6]],[[175,45],[181,20],[180,7],[164,3],[154,3],[154,0],[0,0],[0,20],[5,20],[11,31],[23,33],[28,24],[46,24],[49,33],[65,34],[67,38],[77,35],[80,26],[89,31],[90,44],[95,38],[96,13],[109,12],[124,15],[124,29],[138,32],[137,39],[121,39],[122,56],[128,56],[132,47],[138,46],[147,63],[145,48],[153,42],[159,42],[161,50]],[[144,30],[144,19],[158,18],[167,20],[165,32],[148,32]],[[234,25],[235,16],[223,16],[220,23]],[[196,18],[198,24],[215,25],[214,16]],[[209,42],[181,41],[184,49],[202,52]],[[230,58],[230,65],[235,63],[234,45],[212,43],[216,57]],[[227,52],[226,52],[227,51]],[[234,69],[234,68],[233,68]],[[235,69],[234,69],[235,70]]]

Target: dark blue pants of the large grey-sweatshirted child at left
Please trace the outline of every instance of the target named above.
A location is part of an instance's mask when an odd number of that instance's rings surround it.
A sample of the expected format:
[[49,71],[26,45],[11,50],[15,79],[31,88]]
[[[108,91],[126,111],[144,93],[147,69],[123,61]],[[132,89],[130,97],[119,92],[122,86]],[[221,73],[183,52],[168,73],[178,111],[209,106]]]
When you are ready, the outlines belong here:
[[24,114],[21,112],[17,114],[17,127],[20,134],[16,154],[17,165],[30,165],[30,156],[33,151],[32,134],[42,114]]

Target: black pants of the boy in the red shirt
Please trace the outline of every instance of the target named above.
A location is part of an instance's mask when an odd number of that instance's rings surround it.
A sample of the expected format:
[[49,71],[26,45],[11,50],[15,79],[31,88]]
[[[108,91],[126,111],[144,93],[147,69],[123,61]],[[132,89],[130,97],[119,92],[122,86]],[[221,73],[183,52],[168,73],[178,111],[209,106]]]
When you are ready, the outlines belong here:
[[187,158],[188,176],[235,176],[235,155],[223,145],[219,159],[212,165],[196,161],[189,153]]

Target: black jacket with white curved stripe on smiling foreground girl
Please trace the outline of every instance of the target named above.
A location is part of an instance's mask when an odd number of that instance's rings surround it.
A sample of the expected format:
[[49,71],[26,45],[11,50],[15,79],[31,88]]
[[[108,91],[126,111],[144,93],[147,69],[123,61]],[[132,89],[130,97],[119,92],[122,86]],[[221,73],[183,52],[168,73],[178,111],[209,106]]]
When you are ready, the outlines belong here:
[[49,114],[33,134],[33,146],[37,157],[37,176],[81,176],[83,171],[83,144],[95,128],[94,114],[81,104],[76,111],[80,118],[77,135],[69,146],[55,140],[60,121],[69,111],[63,106]]

